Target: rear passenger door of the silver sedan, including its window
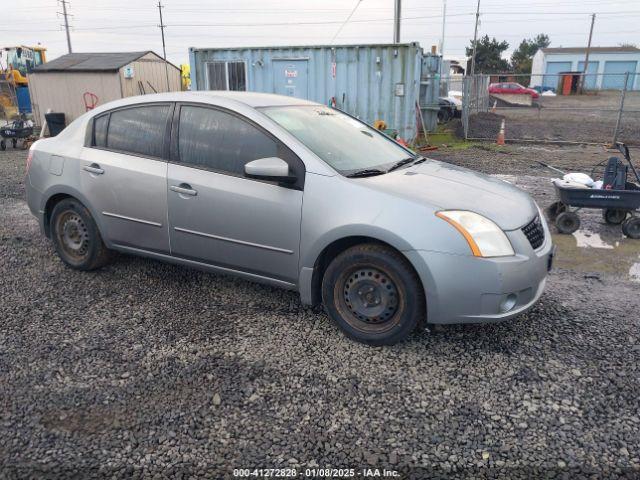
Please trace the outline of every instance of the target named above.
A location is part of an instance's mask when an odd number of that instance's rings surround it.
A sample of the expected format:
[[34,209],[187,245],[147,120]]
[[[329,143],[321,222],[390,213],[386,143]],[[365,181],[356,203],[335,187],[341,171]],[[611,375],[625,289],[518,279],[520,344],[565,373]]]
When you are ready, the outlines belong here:
[[82,152],[80,185],[105,239],[169,252],[167,161],[170,103],[133,105],[97,116]]

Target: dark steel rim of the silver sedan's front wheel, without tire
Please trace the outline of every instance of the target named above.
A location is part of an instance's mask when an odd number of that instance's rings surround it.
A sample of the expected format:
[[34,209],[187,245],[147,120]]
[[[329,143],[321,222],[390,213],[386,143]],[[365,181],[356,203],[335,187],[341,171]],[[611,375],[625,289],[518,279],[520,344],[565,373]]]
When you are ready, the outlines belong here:
[[392,322],[400,302],[398,288],[389,275],[370,267],[357,268],[347,274],[343,299],[360,327],[374,329]]

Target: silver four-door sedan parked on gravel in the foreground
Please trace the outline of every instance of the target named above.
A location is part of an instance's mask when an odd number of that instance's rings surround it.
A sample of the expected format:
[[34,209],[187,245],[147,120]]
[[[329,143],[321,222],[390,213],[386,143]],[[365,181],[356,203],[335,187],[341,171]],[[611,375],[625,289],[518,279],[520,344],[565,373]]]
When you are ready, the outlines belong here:
[[107,103],[32,146],[26,189],[71,268],[117,250],[239,275],[324,303],[377,345],[518,315],[552,258],[544,216],[513,185],[269,94]]

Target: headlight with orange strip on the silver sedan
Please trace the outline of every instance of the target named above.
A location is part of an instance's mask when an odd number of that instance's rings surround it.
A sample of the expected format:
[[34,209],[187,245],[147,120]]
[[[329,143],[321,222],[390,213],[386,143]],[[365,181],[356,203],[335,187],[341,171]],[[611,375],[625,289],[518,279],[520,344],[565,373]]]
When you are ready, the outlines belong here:
[[465,210],[444,210],[436,212],[436,216],[449,222],[462,234],[476,257],[515,255],[505,233],[482,215]]

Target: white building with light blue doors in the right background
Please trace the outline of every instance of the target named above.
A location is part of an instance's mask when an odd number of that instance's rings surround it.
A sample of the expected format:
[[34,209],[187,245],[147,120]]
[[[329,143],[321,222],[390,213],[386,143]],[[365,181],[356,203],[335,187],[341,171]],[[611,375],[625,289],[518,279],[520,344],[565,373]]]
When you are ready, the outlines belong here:
[[[531,86],[557,88],[559,73],[582,72],[586,48],[541,48],[533,57]],[[627,88],[640,90],[640,49],[591,47],[584,86],[595,90],[620,90],[629,72]]]

